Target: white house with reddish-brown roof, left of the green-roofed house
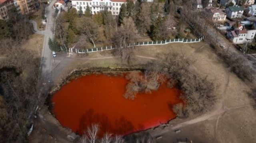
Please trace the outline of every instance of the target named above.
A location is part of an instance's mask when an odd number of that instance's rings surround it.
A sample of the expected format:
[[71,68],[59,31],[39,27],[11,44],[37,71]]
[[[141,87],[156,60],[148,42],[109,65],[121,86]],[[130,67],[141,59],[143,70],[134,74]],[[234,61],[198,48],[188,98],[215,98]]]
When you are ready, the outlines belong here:
[[208,6],[205,8],[207,12],[209,12],[210,17],[213,21],[224,21],[226,20],[226,14],[217,8],[213,8],[212,6]]

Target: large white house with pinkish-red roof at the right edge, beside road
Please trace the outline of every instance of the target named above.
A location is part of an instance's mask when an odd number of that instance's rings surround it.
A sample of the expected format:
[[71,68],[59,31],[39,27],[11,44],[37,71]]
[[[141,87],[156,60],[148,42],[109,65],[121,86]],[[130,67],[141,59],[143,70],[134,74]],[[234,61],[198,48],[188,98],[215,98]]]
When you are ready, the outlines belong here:
[[252,42],[255,34],[256,30],[246,30],[244,26],[239,25],[239,28],[229,31],[227,37],[230,38],[234,44],[244,44],[246,42]]

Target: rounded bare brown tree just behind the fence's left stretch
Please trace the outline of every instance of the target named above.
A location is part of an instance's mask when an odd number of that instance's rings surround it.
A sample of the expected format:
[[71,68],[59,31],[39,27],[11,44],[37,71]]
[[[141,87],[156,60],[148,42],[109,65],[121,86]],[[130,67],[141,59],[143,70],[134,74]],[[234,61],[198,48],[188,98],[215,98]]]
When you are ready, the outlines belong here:
[[98,38],[98,24],[92,18],[82,16],[77,18],[75,25],[76,29],[85,34],[95,48],[95,41]]

